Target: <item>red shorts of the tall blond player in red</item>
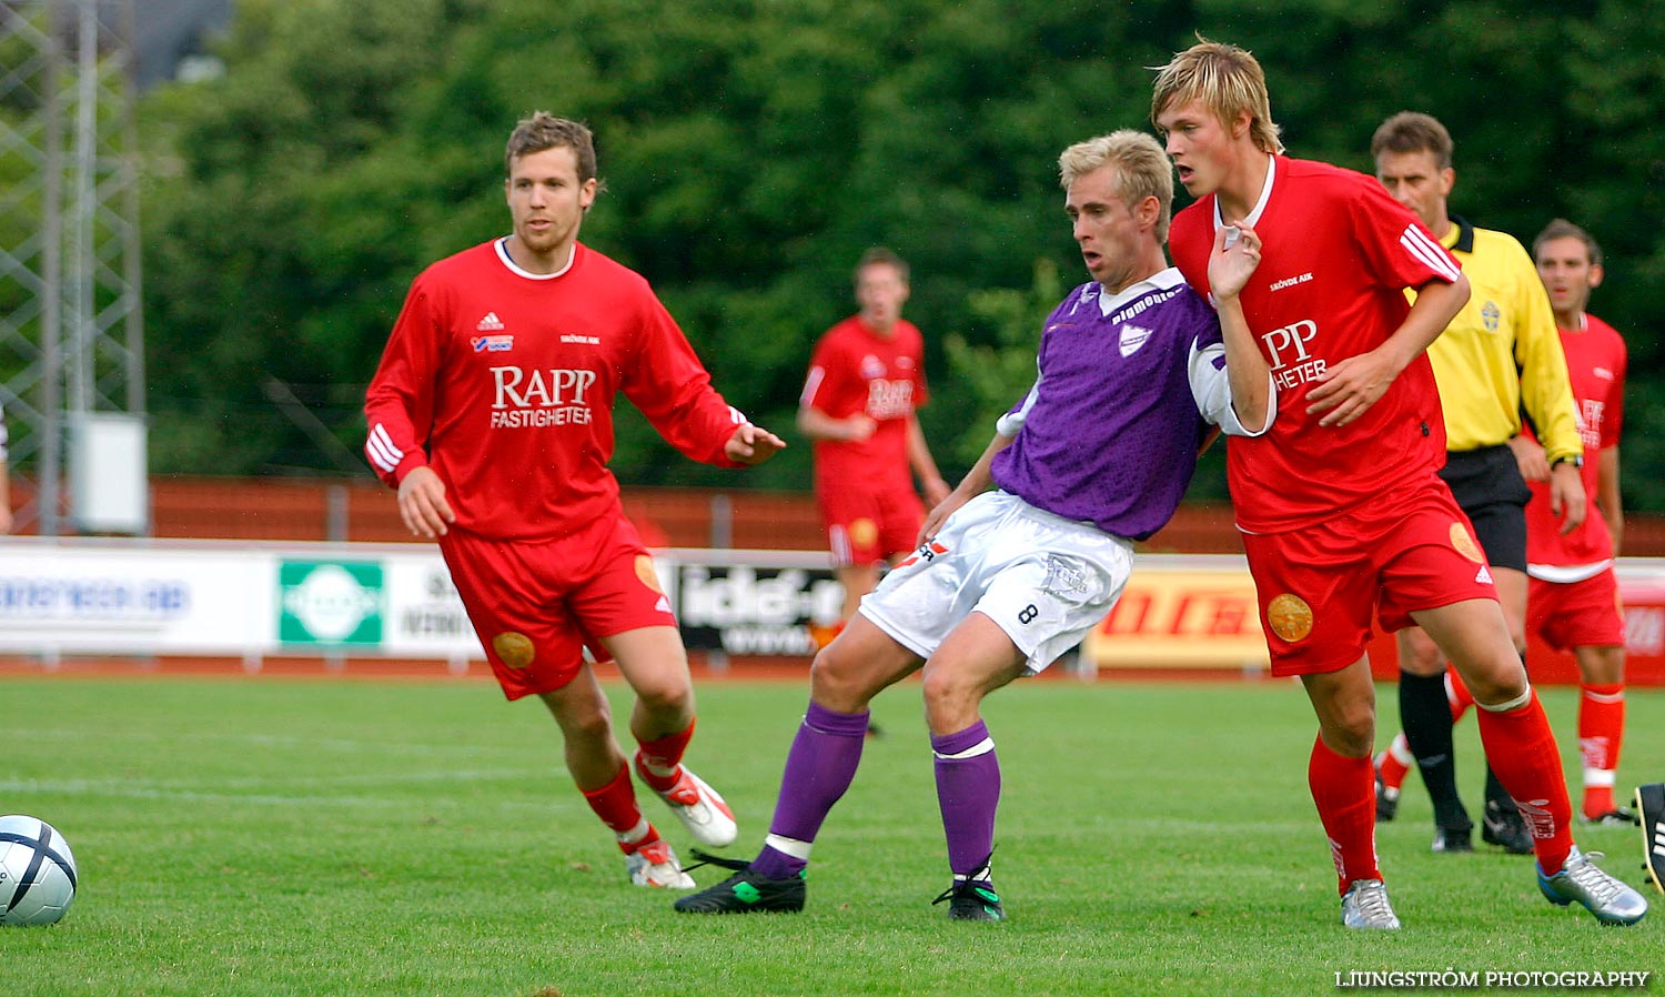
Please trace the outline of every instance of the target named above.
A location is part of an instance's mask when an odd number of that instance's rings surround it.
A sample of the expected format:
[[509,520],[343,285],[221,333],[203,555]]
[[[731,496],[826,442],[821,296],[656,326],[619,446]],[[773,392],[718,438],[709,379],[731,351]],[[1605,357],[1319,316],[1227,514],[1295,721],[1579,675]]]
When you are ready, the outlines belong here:
[[1305,529],[1245,533],[1244,549],[1274,676],[1359,661],[1372,616],[1392,632],[1419,609],[1497,599],[1469,519],[1434,474]]

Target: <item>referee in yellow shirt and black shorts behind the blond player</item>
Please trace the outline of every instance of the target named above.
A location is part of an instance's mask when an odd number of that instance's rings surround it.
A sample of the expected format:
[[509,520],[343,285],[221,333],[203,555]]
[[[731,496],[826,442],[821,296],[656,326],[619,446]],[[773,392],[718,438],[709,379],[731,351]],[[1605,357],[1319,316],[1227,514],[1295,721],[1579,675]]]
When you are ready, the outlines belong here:
[[[1583,443],[1573,411],[1567,358],[1555,333],[1555,315],[1537,268],[1510,235],[1475,228],[1447,211],[1457,180],[1452,138],[1439,120],[1400,112],[1382,122],[1370,140],[1375,175],[1402,205],[1462,263],[1472,295],[1434,345],[1429,360],[1445,409],[1445,469],[1457,504],[1469,514],[1485,551],[1515,649],[1525,656],[1527,519],[1530,491],[1525,474],[1548,476],[1550,509],[1562,529],[1583,523],[1585,494],[1578,476]],[[1543,441],[1548,468],[1522,466],[1508,443],[1520,433],[1522,413]],[[1445,657],[1419,629],[1399,632],[1399,717],[1404,734],[1385,754],[1409,754],[1422,771],[1434,802],[1434,851],[1474,851],[1474,824],[1457,796],[1452,716],[1472,702]],[[1397,774],[1404,777],[1404,764]],[[1392,761],[1379,762],[1377,819],[1397,809],[1397,781],[1385,777]],[[1510,852],[1532,854],[1532,837],[1513,801],[1487,769],[1482,839]]]

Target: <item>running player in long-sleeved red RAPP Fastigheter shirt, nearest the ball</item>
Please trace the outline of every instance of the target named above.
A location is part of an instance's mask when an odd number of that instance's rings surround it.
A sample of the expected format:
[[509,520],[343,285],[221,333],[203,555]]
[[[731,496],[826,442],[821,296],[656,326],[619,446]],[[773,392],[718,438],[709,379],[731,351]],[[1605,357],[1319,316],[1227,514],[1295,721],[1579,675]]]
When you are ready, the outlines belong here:
[[365,453],[411,534],[438,539],[504,696],[538,696],[566,769],[638,885],[693,889],[641,814],[608,699],[584,659],[636,692],[636,776],[711,847],[723,797],[681,764],[694,692],[653,561],[606,461],[623,393],[678,449],[723,466],[781,446],[711,388],[641,275],[578,241],[599,191],[589,130],[538,112],[504,151],[513,231],[411,285],[365,401]]

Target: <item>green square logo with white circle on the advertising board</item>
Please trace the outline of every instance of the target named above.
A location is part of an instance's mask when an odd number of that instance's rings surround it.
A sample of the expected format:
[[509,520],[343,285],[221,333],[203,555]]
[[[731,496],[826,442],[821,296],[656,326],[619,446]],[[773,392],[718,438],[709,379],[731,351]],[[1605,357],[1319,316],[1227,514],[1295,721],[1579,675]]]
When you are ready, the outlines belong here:
[[285,644],[380,644],[381,564],[283,561],[278,566]]

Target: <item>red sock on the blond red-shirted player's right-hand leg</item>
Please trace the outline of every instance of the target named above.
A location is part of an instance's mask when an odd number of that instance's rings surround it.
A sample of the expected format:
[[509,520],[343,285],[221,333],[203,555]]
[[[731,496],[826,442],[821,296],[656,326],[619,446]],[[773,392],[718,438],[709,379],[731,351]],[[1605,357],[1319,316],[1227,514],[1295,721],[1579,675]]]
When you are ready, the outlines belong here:
[[1555,734],[1537,691],[1508,712],[1480,709],[1480,744],[1532,834],[1538,869],[1560,871],[1572,854],[1572,801],[1560,767]]

